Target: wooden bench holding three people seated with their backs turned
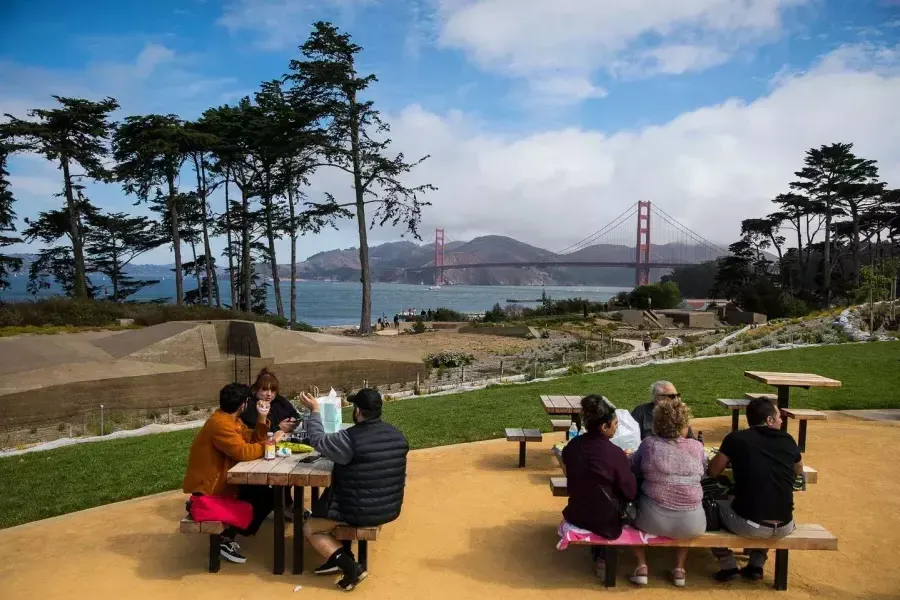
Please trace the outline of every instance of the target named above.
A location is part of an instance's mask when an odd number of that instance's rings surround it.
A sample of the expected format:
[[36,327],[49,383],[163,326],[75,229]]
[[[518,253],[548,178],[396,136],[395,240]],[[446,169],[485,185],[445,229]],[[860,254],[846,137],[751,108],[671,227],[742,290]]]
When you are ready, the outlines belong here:
[[[789,550],[837,550],[838,539],[821,525],[798,524],[797,529],[783,538],[763,540],[742,538],[728,531],[707,531],[690,540],[672,540],[650,544],[654,548],[675,546],[681,548],[765,548],[775,550],[775,589],[787,589]],[[616,563],[619,548],[623,544],[593,544],[591,542],[569,542],[570,544],[601,545],[606,547],[606,587],[616,586]]]

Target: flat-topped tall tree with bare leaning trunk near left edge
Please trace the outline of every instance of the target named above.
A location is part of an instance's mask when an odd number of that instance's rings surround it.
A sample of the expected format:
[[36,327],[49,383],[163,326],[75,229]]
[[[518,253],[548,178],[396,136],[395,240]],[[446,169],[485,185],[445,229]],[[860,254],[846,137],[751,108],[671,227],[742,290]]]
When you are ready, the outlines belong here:
[[[107,156],[106,139],[111,125],[109,114],[119,108],[113,98],[92,102],[81,98],[53,96],[59,108],[35,108],[28,111],[33,120],[23,120],[7,114],[8,122],[0,127],[0,137],[13,140],[21,151],[42,154],[59,165],[63,175],[63,196],[69,218],[69,237],[72,240],[74,261],[73,291],[77,298],[88,297],[88,287],[82,240],[79,230],[83,215],[79,212],[76,192],[83,189],[84,178],[108,181],[109,171],[103,166]],[[84,173],[72,173],[78,165]]]

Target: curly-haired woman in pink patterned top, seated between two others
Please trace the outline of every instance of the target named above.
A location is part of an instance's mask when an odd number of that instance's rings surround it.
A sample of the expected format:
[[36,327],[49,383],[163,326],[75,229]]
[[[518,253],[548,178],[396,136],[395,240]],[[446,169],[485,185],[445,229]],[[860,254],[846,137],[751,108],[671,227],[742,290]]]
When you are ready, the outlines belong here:
[[[691,409],[681,400],[659,400],[653,409],[653,435],[644,438],[631,457],[632,468],[641,477],[638,498],[638,529],[676,540],[695,538],[706,531],[703,488],[706,472],[703,444],[687,437]],[[675,550],[672,580],[685,584],[684,562],[687,548]],[[632,581],[647,583],[647,556],[643,546],[635,546],[638,568]]]

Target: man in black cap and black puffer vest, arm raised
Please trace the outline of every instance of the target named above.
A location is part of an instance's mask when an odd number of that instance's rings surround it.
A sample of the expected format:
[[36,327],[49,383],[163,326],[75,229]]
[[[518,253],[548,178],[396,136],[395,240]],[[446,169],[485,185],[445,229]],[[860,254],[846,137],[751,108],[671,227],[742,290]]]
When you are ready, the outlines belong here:
[[409,443],[393,425],[381,420],[381,394],[362,389],[348,400],[355,406],[353,427],[326,434],[319,403],[301,394],[310,411],[309,443],[334,462],[331,487],[319,498],[303,525],[303,535],[316,552],[326,558],[317,575],[343,572],[338,587],[350,591],[367,576],[353,553],[334,538],[338,525],[376,527],[400,516],[406,486],[406,455]]

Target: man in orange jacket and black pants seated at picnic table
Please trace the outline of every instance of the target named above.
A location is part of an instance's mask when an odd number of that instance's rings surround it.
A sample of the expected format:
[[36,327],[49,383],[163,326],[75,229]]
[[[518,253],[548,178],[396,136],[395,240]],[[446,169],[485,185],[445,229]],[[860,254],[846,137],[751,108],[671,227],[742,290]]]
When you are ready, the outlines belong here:
[[[222,388],[219,409],[206,420],[191,445],[187,471],[181,484],[184,493],[192,496],[227,496],[248,502],[253,507],[253,520],[247,529],[229,527],[222,533],[220,553],[236,563],[245,563],[247,558],[241,554],[241,547],[234,541],[234,536],[255,535],[275,504],[272,488],[268,486],[234,486],[226,481],[228,470],[235,464],[256,460],[265,454],[269,403],[257,402],[258,419],[256,428],[251,430],[240,418],[250,398],[250,388],[246,385],[230,383]],[[276,431],[275,442],[281,441],[283,436],[283,431]]]

